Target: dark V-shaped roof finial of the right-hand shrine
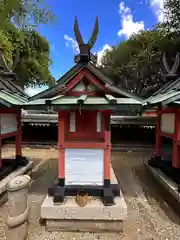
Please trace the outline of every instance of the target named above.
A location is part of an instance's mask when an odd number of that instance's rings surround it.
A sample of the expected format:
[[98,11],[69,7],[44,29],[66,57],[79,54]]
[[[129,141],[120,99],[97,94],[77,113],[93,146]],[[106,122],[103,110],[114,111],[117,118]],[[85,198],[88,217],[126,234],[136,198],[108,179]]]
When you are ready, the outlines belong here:
[[167,72],[166,76],[167,77],[176,77],[178,75],[177,71],[178,71],[178,68],[179,68],[179,65],[180,65],[179,53],[176,54],[176,58],[175,58],[174,64],[173,64],[171,69],[170,69],[169,64],[167,62],[166,53],[163,54],[163,59],[162,60],[163,60],[164,68]]

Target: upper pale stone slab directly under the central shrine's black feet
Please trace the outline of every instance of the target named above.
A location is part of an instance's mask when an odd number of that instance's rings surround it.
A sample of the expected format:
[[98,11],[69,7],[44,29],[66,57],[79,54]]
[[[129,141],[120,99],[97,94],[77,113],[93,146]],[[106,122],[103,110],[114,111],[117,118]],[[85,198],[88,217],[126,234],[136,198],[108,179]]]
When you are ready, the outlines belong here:
[[55,205],[53,198],[47,196],[41,207],[43,219],[124,220],[126,215],[127,207],[122,197],[116,197],[113,206],[104,206],[100,199],[92,198],[85,207],[79,207],[73,197]]

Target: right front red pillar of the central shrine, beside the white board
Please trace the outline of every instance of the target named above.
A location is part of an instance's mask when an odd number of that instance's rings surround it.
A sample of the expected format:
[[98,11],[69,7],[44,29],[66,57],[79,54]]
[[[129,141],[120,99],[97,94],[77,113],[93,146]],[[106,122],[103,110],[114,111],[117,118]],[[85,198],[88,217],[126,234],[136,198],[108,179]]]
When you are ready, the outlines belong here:
[[110,166],[111,166],[111,132],[110,115],[104,115],[104,186],[110,186]]

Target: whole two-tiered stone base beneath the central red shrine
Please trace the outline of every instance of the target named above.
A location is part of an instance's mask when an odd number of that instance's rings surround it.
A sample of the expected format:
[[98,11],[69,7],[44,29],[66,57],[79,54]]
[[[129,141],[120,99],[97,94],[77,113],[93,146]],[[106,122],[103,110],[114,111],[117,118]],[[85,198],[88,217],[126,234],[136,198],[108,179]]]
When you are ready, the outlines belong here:
[[[111,183],[117,183],[112,168]],[[79,207],[75,197],[66,197],[64,203],[56,205],[49,196],[41,206],[41,218],[48,231],[121,232],[126,217],[127,205],[122,192],[115,198],[113,206],[104,206],[99,198],[94,197],[85,207]]]

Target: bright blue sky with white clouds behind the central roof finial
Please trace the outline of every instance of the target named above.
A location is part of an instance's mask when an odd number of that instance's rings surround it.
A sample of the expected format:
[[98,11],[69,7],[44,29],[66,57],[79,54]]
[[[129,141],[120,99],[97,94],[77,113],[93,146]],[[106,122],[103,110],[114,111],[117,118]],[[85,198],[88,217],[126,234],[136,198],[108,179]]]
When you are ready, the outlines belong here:
[[[100,31],[93,48],[100,59],[104,50],[117,44],[141,29],[150,29],[162,20],[163,0],[48,0],[56,15],[55,23],[39,26],[40,33],[51,46],[53,64],[51,72],[59,79],[74,64],[77,54],[73,24],[78,17],[85,41],[89,40],[96,16],[99,17]],[[45,88],[28,89],[36,94]]]

